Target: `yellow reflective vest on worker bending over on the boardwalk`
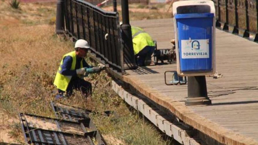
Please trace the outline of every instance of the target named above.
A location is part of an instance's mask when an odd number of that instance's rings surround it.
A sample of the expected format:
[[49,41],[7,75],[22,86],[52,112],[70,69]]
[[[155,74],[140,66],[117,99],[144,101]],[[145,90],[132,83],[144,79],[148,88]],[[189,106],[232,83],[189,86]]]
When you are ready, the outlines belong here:
[[146,46],[155,46],[152,38],[142,28],[131,26],[134,54],[138,54]]

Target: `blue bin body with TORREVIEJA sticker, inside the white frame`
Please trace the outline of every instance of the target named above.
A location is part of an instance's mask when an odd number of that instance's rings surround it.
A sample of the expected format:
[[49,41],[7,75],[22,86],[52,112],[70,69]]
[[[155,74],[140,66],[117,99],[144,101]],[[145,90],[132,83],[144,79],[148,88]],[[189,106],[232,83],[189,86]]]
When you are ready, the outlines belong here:
[[181,72],[213,70],[213,13],[176,14]]

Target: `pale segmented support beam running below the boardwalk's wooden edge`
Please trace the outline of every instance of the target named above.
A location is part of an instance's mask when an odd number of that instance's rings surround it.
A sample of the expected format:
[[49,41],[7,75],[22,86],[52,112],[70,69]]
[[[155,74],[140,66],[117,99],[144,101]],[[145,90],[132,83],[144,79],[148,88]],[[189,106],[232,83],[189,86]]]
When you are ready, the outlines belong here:
[[137,95],[132,95],[130,92],[124,90],[115,81],[112,81],[112,89],[123,99],[126,103],[138,110],[148,120],[150,120],[156,127],[169,137],[173,137],[176,141],[184,145],[203,145],[204,143],[197,137],[189,137],[195,130],[190,130],[179,123],[174,123],[168,115],[160,111],[151,103]]

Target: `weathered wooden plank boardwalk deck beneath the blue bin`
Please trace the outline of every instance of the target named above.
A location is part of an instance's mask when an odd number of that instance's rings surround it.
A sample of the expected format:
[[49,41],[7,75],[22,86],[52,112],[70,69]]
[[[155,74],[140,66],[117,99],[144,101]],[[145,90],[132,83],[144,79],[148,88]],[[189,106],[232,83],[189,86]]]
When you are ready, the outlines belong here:
[[[132,21],[159,49],[171,48],[172,19]],[[212,105],[185,106],[187,85],[167,86],[164,71],[176,64],[139,67],[123,77],[140,93],[168,108],[179,119],[224,144],[258,144],[258,44],[216,29],[216,71],[206,77]]]

